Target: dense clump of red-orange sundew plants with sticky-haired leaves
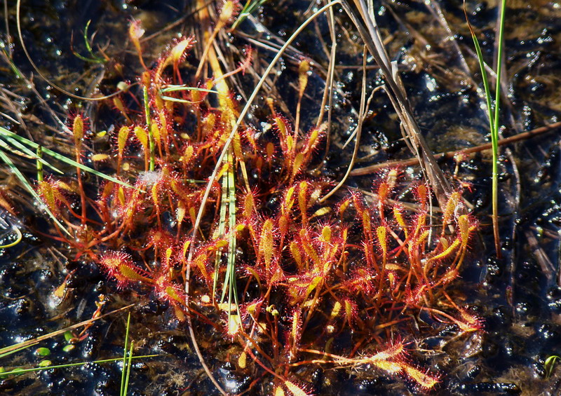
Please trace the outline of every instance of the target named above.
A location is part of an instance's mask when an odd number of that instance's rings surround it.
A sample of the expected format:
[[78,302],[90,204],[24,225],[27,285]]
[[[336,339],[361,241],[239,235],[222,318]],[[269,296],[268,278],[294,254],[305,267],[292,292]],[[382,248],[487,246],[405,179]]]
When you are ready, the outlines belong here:
[[[133,287],[167,303],[177,320],[223,335],[229,360],[256,379],[269,377],[269,392],[311,393],[299,376],[303,366],[374,367],[421,390],[435,388],[442,373],[419,369],[407,353],[420,335],[410,334],[414,318],[428,315],[460,334],[482,329],[447,291],[478,227],[461,193],[452,192],[433,219],[431,189],[419,182],[404,193],[400,170],[391,169],[377,176],[373,200],[352,191],[323,202],[334,181],[309,169],[325,127],[297,128],[272,99],[271,130],[258,135],[241,125],[219,161],[238,106],[216,71],[195,78],[181,69],[178,60],[191,42],[177,41],[156,66],[144,67],[138,100],[144,109],[123,116],[109,140],[114,159],[108,166],[120,183],[100,183],[94,200],[79,172],[68,188],[54,176],[43,180],[50,190],[41,196],[60,224],[55,238],[75,257],[99,265],[116,292]],[[142,54],[140,41],[137,50]],[[238,72],[247,64],[240,61]],[[305,88],[303,77],[299,98]],[[127,107],[133,104],[119,111]],[[72,123],[78,164],[87,151],[83,128]],[[206,188],[196,181],[207,180],[215,167],[219,177],[198,227],[202,242],[194,241]],[[259,177],[248,180],[244,169]],[[225,278],[228,286],[217,281]],[[185,302],[184,282],[195,304]],[[231,300],[223,302],[226,292],[236,296],[236,310]]]

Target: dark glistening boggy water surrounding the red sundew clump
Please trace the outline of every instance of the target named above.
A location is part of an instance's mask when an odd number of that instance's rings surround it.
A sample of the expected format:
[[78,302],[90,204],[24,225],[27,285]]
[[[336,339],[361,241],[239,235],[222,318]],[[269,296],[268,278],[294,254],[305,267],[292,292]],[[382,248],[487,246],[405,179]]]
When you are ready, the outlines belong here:
[[[276,43],[276,36],[285,39],[295,29],[309,3],[306,1],[279,1],[267,4],[257,14],[257,20],[248,21],[240,34],[231,37],[234,46],[248,43],[248,36],[260,41]],[[377,18],[391,57],[400,62],[402,78],[414,106],[414,111],[434,151],[459,149],[487,142],[487,120],[481,110],[481,98],[475,92],[472,78],[480,81],[478,66],[470,51],[471,37],[465,25],[461,2],[440,4],[454,40],[439,23],[438,10],[422,2],[403,1],[391,4],[377,3]],[[482,50],[492,64],[496,8],[493,2],[469,4],[471,22],[485,37]],[[557,1],[523,1],[508,3],[506,23],[506,92],[508,104],[503,107],[503,135],[531,130],[547,123],[560,121],[561,67],[561,3]],[[8,22],[12,34],[13,62],[29,76],[29,66],[15,35],[15,4],[8,4]],[[431,11],[432,10],[432,11]],[[147,36],[166,25],[184,18],[181,24],[144,43],[144,59],[156,57],[158,52],[177,37],[178,32],[196,32],[191,2],[132,1],[132,2],[76,2],[60,1],[43,4],[22,4],[22,32],[29,52],[43,74],[73,93],[85,94],[95,83],[104,93],[114,91],[121,80],[134,81],[140,71],[133,46],[127,42],[128,20],[140,18],[147,28]],[[186,16],[187,15],[187,16]],[[343,16],[339,22],[347,31],[341,31],[337,55],[336,81],[339,91],[334,100],[332,151],[326,159],[326,174],[339,179],[346,168],[351,146],[342,144],[356,123],[360,103],[360,71],[345,65],[362,64],[361,46],[353,46],[353,30]],[[111,58],[105,65],[84,62],[72,55],[72,48],[88,56],[81,32],[91,20],[90,32],[97,31],[95,43],[104,47]],[[269,29],[266,32],[264,28]],[[5,28],[2,41],[8,43]],[[328,41],[325,20],[304,32],[295,48],[283,58],[283,72],[275,87],[266,95],[283,98],[286,113],[295,111],[294,88],[297,78],[297,59],[301,53],[318,62],[317,74],[311,77],[309,97],[303,108],[309,109],[311,123],[317,114],[318,101],[323,93],[327,55],[318,32]],[[73,33],[73,34],[72,34]],[[128,50],[123,50],[128,48]],[[461,50],[464,61],[458,55]],[[94,47],[96,49],[96,47]],[[267,62],[273,54],[259,48],[259,62]],[[27,127],[36,139],[53,142],[53,128],[59,128],[55,116],[65,120],[68,113],[79,106],[90,117],[93,132],[107,130],[116,123],[114,111],[107,104],[79,104],[58,93],[34,76],[36,90],[46,99],[43,106],[22,79],[15,78],[11,68],[1,63],[2,88],[21,95],[18,108]],[[372,85],[380,83],[376,69],[369,71]],[[241,78],[241,94],[248,95],[255,78]],[[74,90],[76,87],[76,90]],[[401,134],[385,95],[376,95],[372,101],[375,116],[365,123],[365,133],[359,157],[366,157],[357,167],[383,161],[410,158],[411,153],[400,140]],[[49,110],[50,109],[50,110]],[[11,109],[2,109],[15,117]],[[113,114],[111,116],[111,114]],[[256,108],[253,122],[266,118]],[[24,128],[8,118],[1,125],[24,132]],[[50,127],[50,128],[49,128]],[[64,152],[64,148],[61,148]],[[473,204],[473,213],[482,224],[480,237],[474,243],[471,264],[466,266],[459,283],[458,294],[485,319],[485,332],[454,339],[454,329],[445,326],[426,339],[418,340],[419,348],[433,350],[425,356],[423,367],[431,367],[445,374],[436,394],[442,395],[557,395],[561,385],[561,371],[554,369],[546,378],[545,360],[550,355],[561,355],[561,287],[559,280],[561,229],[561,152],[557,132],[535,137],[503,149],[501,156],[501,240],[503,258],[496,259],[490,226],[490,153],[475,154],[459,165],[457,179],[471,183],[466,198]],[[454,174],[454,161],[441,164],[446,175]],[[32,175],[32,168],[29,168]],[[416,177],[417,170],[412,170]],[[25,207],[18,197],[21,189],[8,172],[0,172],[3,191]],[[350,186],[370,189],[372,176],[350,179]],[[20,202],[21,201],[21,202]],[[31,210],[20,213],[22,222],[36,231],[48,232],[48,225]],[[55,252],[57,248],[62,255]],[[68,257],[68,258],[67,258]],[[67,274],[68,292],[60,303],[53,292]],[[9,250],[0,251],[0,345],[31,339],[41,334],[91,318],[100,294],[108,296],[103,312],[136,303],[133,308],[131,337],[137,354],[157,353],[156,358],[133,365],[130,394],[178,395],[214,394],[210,381],[205,379],[183,325],[151,296],[141,290],[116,292],[115,285],[107,284],[95,264],[86,260],[73,261],[72,252],[56,245],[39,233],[27,231],[24,242]],[[423,320],[423,318],[421,318]],[[425,318],[426,320],[426,318]],[[126,316],[109,316],[88,329],[88,337],[72,350],[64,337],[43,341],[39,346],[50,349],[53,364],[80,362],[122,355]],[[198,331],[204,331],[198,327]],[[446,341],[446,342],[444,342]],[[209,357],[215,374],[229,384],[231,392],[242,392],[255,378],[246,376],[227,361],[227,342],[212,340],[216,353]],[[0,365],[32,367],[43,357],[34,353],[37,346],[4,357]],[[411,384],[398,378],[387,378],[374,370],[340,370],[304,373],[320,395],[404,395],[415,393]],[[326,385],[327,379],[331,385]],[[116,395],[121,383],[120,363],[87,364],[83,367],[53,369],[41,374],[28,374],[1,380],[1,392],[7,395]],[[264,392],[266,387],[252,388],[252,394]]]

